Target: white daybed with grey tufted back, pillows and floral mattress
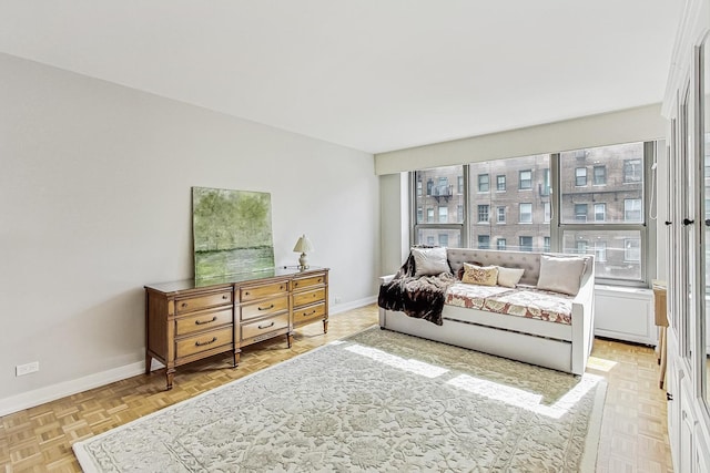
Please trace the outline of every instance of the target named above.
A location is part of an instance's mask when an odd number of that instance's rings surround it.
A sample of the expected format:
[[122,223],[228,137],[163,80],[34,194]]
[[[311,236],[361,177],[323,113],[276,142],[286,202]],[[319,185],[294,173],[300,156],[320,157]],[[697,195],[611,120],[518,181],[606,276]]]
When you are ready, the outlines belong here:
[[[410,254],[397,275],[381,278],[378,304],[383,329],[574,374],[585,372],[594,342],[592,256],[469,248],[439,248],[439,255],[442,250],[446,251],[448,270],[435,275],[438,269],[434,269],[419,275],[417,259]],[[424,267],[430,261],[419,263]],[[481,286],[476,284],[478,279],[469,277],[484,275],[486,278],[494,271],[493,267],[503,268],[501,277],[517,269],[519,280],[514,278],[500,286],[497,281],[491,284],[489,278],[484,281],[486,286]],[[402,304],[408,295],[388,292],[403,277],[409,277],[407,280],[416,285],[425,282],[442,288],[444,304],[437,310],[440,318],[436,319],[436,313],[412,313],[407,305]],[[398,300],[387,301],[387,298]]]

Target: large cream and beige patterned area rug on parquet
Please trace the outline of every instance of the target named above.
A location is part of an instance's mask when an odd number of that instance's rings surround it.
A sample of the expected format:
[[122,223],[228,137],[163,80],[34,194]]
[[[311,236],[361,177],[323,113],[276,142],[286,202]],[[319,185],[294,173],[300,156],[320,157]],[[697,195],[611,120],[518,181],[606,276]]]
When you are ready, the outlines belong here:
[[605,393],[373,328],[73,449],[85,472],[586,472]]

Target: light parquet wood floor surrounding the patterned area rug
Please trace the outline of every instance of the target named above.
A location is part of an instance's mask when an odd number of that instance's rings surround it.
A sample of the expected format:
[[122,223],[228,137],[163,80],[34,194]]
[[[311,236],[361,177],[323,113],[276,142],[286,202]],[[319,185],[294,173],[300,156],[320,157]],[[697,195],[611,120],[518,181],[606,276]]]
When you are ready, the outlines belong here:
[[[165,391],[162,371],[138,376],[0,418],[0,473],[80,472],[71,445],[175,402],[304,353],[377,322],[368,306],[298,329],[292,349],[281,338],[247,347],[237,369],[230,357],[182,367]],[[597,340],[589,372],[607,378],[597,471],[671,472],[665,391],[658,389],[658,364],[647,347]]]

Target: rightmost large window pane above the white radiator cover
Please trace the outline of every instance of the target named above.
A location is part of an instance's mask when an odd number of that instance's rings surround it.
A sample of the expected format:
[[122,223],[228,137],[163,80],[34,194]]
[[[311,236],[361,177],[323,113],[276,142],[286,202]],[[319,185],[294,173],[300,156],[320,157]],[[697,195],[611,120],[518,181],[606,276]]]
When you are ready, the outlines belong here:
[[[578,241],[588,241],[598,284],[647,282],[643,169],[653,162],[651,153],[650,145],[626,143],[559,154],[561,251],[576,253]],[[579,188],[579,168],[591,169],[592,184],[604,191]]]

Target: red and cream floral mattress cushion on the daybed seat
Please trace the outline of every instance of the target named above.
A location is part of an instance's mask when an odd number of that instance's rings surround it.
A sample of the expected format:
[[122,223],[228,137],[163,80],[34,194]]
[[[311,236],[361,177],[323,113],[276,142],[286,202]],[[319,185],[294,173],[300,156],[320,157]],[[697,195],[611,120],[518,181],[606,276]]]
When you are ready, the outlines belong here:
[[446,291],[446,304],[508,316],[571,325],[572,296],[535,288],[454,284]]

